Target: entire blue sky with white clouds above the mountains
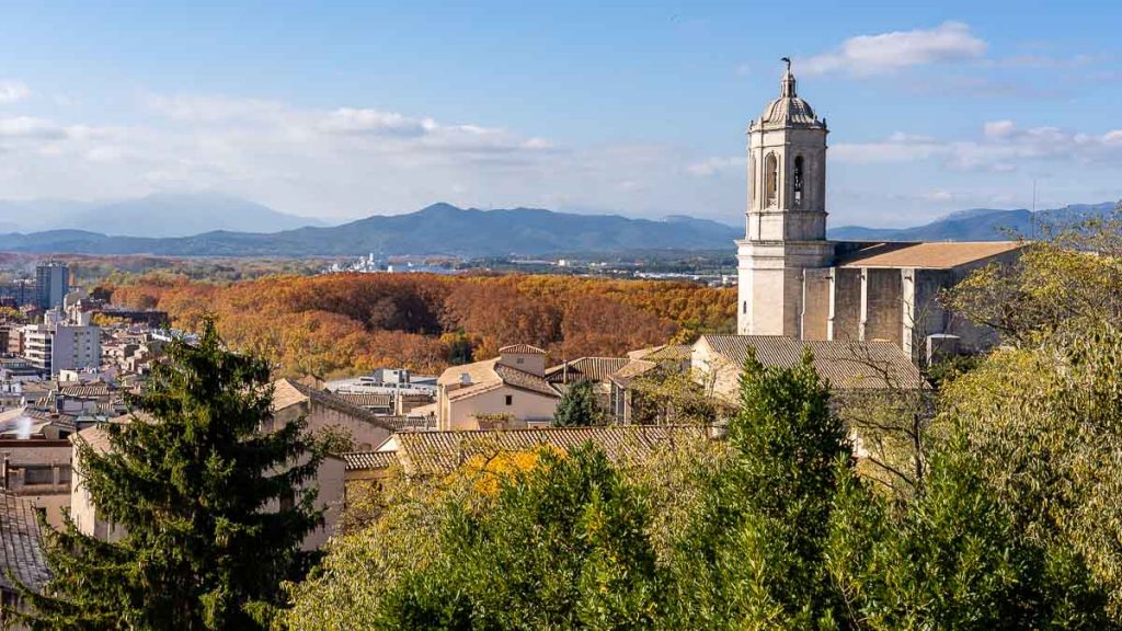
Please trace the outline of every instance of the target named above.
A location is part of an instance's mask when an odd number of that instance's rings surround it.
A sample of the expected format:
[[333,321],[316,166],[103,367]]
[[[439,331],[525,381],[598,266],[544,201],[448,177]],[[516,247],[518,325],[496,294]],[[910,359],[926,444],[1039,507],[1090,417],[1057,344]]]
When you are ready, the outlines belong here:
[[[0,199],[728,223],[793,58],[830,225],[1122,198],[1122,3],[4,2]],[[2,218],[0,218],[2,219]]]

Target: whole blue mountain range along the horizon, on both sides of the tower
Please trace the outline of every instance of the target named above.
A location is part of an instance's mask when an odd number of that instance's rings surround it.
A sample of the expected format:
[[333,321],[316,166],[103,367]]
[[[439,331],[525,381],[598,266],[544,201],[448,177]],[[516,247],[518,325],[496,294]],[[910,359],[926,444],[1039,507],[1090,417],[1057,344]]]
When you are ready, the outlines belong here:
[[[448,203],[432,204],[406,214],[367,217],[341,226],[301,227],[294,223],[310,220],[218,195],[153,195],[85,209],[61,205],[75,218],[72,228],[2,234],[0,250],[162,256],[357,256],[374,253],[475,258],[562,252],[726,250],[744,234],[743,228],[686,216],[650,220],[531,208],[462,209]],[[3,208],[0,203],[0,210]],[[1023,209],[972,209],[914,228],[846,226],[830,230],[829,237],[861,241],[1002,240],[1011,235],[1031,237],[1036,226],[1102,216],[1114,208],[1113,202],[1105,202],[1036,213]],[[15,222],[7,214],[3,220]],[[163,228],[160,222],[176,226]],[[234,223],[249,225],[250,229],[228,228]],[[215,226],[226,229],[182,234]],[[86,229],[79,229],[81,227]],[[113,232],[118,236],[111,236]],[[126,232],[130,236],[120,236]]]

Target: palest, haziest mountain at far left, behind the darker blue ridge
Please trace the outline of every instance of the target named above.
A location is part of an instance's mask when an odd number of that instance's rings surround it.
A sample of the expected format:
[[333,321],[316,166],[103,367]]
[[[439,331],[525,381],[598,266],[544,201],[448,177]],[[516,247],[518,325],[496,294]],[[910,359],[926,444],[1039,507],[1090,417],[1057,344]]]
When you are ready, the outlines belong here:
[[0,217],[4,232],[85,230],[128,237],[186,237],[213,230],[276,232],[323,225],[218,193],[157,193],[109,203],[0,201]]

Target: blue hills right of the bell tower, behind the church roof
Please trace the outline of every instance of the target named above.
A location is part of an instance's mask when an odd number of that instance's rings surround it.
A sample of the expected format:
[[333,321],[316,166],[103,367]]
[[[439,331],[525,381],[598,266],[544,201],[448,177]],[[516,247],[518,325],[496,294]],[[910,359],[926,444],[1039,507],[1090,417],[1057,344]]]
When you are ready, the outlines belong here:
[[845,241],[997,241],[1018,236],[1031,238],[1040,226],[1065,225],[1114,211],[1114,202],[1072,204],[1040,210],[995,210],[976,208],[953,212],[914,228],[863,228],[843,226],[829,231],[831,239]]

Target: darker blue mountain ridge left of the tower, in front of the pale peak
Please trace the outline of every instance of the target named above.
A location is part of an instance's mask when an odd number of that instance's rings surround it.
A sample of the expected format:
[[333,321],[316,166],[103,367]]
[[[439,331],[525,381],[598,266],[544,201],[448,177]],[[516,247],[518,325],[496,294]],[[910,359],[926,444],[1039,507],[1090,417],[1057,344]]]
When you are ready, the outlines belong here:
[[465,257],[557,252],[714,249],[741,237],[732,226],[673,217],[663,221],[542,209],[461,209],[436,203],[398,216],[374,216],[335,227],[209,231],[190,237],[107,236],[103,230],[0,235],[0,249],[31,253],[165,256],[353,256],[444,254]]

